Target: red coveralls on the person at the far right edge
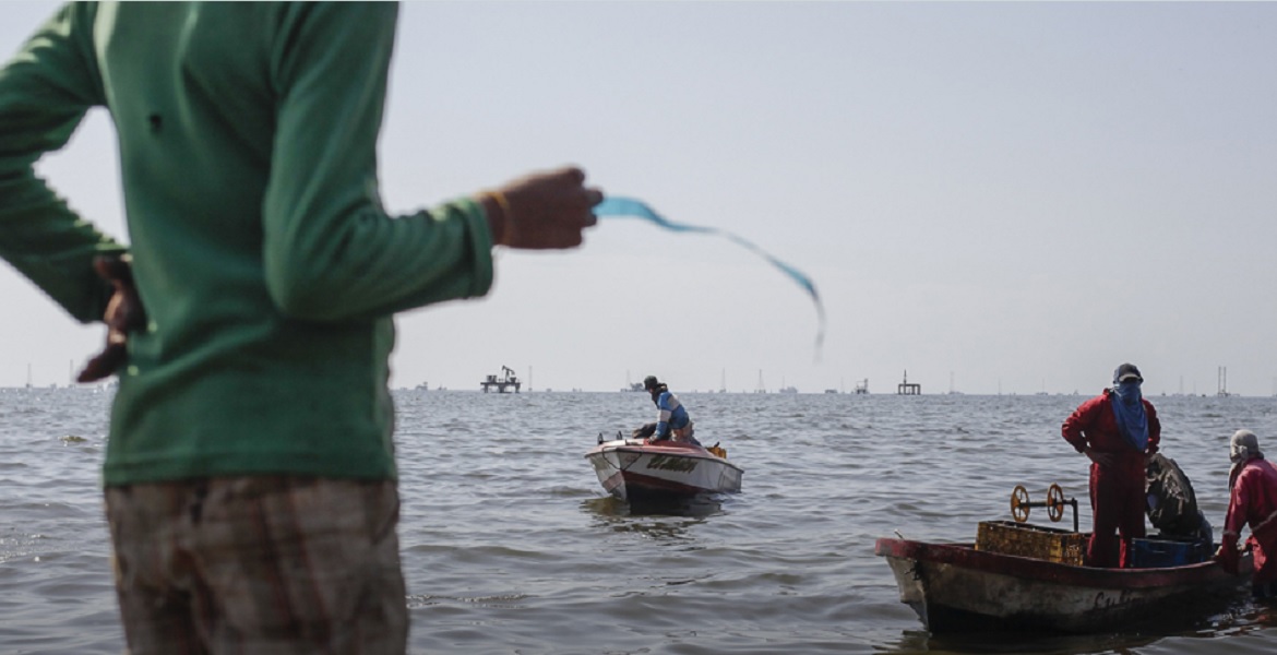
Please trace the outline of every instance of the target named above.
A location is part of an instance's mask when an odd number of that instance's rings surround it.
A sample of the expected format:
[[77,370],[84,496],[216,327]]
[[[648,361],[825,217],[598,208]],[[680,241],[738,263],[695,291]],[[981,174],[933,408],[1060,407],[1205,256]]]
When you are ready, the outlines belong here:
[[[1255,589],[1272,590],[1277,581],[1277,466],[1268,460],[1251,458],[1241,467],[1228,498],[1228,515],[1223,520],[1221,559],[1228,572],[1237,571],[1237,539],[1241,527],[1250,525],[1250,544],[1255,562],[1251,578]],[[1264,594],[1267,595],[1267,594]]]

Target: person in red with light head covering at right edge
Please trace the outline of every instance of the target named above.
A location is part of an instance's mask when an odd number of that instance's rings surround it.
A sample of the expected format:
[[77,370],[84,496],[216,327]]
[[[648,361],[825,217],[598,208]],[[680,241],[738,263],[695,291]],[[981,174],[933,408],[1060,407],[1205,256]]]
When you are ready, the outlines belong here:
[[1255,573],[1250,578],[1255,598],[1277,596],[1277,466],[1259,452],[1259,438],[1250,430],[1237,430],[1228,444],[1232,470],[1228,471],[1228,515],[1223,520],[1223,541],[1216,559],[1225,571],[1237,573],[1237,540],[1241,527],[1250,525],[1246,545],[1254,554]]

